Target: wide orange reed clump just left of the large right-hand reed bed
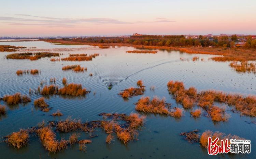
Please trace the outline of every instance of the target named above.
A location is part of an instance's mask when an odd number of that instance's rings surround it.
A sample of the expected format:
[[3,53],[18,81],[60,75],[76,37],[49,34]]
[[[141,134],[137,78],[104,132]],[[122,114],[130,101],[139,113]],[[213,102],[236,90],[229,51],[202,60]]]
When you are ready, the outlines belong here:
[[170,112],[166,106],[165,98],[160,99],[155,96],[150,100],[150,97],[141,97],[136,103],[135,110],[145,113],[168,115]]

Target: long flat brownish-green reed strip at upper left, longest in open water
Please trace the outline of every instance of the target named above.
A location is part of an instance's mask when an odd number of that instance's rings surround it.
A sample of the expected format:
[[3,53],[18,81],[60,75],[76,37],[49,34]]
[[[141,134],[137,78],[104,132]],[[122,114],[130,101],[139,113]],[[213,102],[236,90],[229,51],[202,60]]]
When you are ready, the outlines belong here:
[[29,59],[29,60],[38,60],[45,57],[56,57],[59,56],[59,53],[52,53],[52,52],[25,52],[25,53],[12,53],[6,55],[6,59]]

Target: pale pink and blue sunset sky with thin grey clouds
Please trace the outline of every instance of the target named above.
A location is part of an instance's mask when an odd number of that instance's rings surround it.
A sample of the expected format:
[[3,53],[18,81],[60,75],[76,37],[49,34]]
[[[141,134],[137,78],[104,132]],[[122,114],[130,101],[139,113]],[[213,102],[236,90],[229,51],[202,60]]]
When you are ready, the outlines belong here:
[[8,0],[0,36],[256,34],[256,0]]

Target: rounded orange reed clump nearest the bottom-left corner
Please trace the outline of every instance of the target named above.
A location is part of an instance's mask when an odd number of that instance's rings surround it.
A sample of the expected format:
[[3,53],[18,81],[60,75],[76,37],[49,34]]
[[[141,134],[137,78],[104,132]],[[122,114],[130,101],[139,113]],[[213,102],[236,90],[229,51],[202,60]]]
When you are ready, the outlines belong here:
[[13,132],[5,138],[6,143],[19,149],[28,144],[29,133],[27,130],[20,129],[19,131]]

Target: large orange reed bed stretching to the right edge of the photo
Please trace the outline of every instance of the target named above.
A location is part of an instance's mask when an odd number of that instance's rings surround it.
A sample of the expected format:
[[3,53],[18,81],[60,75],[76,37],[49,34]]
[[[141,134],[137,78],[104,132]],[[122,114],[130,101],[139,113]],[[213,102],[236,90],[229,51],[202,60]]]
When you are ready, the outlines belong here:
[[241,115],[256,117],[256,97],[242,96],[239,94],[227,94],[221,91],[207,90],[197,93],[196,89],[190,87],[185,89],[183,82],[169,81],[167,83],[169,93],[184,108],[192,108],[195,104],[203,108],[212,117],[213,121],[226,121],[228,114],[222,108],[213,106],[214,101],[234,106]]

